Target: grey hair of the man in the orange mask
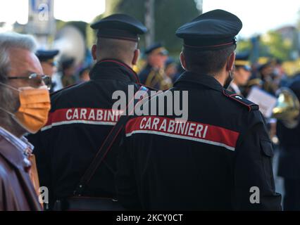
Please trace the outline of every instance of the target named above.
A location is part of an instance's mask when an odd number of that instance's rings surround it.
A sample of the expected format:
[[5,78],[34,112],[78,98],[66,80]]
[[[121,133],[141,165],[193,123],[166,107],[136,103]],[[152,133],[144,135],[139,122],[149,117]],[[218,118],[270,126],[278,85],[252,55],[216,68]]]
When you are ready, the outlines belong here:
[[31,35],[27,34],[13,32],[0,34],[0,82],[6,82],[6,77],[11,67],[8,55],[8,50],[11,48],[35,52],[37,42]]

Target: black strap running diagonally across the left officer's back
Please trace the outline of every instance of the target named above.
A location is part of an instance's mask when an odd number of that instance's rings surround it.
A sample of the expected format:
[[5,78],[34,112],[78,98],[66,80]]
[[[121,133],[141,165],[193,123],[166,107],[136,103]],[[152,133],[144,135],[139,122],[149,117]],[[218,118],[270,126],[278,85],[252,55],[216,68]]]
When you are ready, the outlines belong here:
[[[139,88],[139,91],[148,92],[149,89],[147,89],[144,86],[141,86]],[[130,103],[132,103],[132,101],[134,101],[134,103],[136,105],[136,103],[139,101],[139,99],[133,98],[130,101]],[[128,105],[130,103],[128,103]],[[127,108],[128,108],[128,105],[127,105]],[[95,156],[94,160],[92,161],[91,165],[89,165],[89,167],[85,171],[85,174],[83,174],[82,178],[80,179],[79,184],[77,184],[75,191],[74,191],[74,195],[77,195],[77,196],[82,195],[83,191],[85,190],[85,186],[87,186],[89,181],[92,179],[92,177],[94,176],[94,174],[96,172],[96,169],[99,168],[99,166],[101,165],[101,162],[103,162],[108,151],[111,149],[111,146],[113,146],[115,139],[118,137],[118,134],[120,133],[120,131],[123,129],[124,125],[126,124],[129,115],[130,115],[130,113],[127,113],[126,115],[121,115],[119,121],[115,124],[115,126],[113,126],[111,131],[108,133],[108,136],[106,136],[104,143],[102,143],[101,148],[96,153],[96,156]]]

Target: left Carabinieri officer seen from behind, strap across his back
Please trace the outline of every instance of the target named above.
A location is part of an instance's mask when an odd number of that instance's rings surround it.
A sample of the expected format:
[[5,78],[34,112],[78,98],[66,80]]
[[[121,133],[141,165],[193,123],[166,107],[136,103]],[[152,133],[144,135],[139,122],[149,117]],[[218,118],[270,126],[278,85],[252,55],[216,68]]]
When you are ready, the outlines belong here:
[[[52,94],[49,121],[30,137],[35,143],[41,185],[49,188],[49,207],[55,200],[63,202],[73,196],[80,178],[120,117],[120,112],[112,110],[113,93],[127,93],[131,84],[135,89],[140,86],[132,66],[139,57],[139,34],[144,34],[146,27],[125,14],[110,15],[91,27],[97,30],[91,80]],[[115,156],[115,150],[106,155],[83,195],[115,197]]]

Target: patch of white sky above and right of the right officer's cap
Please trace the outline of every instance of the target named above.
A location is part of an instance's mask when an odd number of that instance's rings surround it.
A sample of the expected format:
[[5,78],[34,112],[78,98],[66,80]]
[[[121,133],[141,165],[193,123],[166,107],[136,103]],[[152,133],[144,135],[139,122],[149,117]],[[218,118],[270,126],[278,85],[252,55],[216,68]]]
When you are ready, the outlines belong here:
[[242,37],[264,33],[283,25],[296,25],[300,0],[203,0],[203,11],[224,9],[243,23]]

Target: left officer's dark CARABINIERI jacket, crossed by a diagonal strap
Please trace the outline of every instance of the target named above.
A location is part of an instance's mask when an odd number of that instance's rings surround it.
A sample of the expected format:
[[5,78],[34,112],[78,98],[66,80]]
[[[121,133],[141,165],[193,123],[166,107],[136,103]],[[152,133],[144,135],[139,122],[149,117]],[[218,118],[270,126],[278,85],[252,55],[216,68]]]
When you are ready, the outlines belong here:
[[[87,167],[120,114],[113,113],[114,91],[128,85],[139,88],[137,75],[118,60],[102,60],[90,72],[91,80],[51,95],[49,121],[28,138],[35,146],[41,186],[51,200],[73,195]],[[89,182],[84,195],[115,196],[116,150],[111,150]]]

